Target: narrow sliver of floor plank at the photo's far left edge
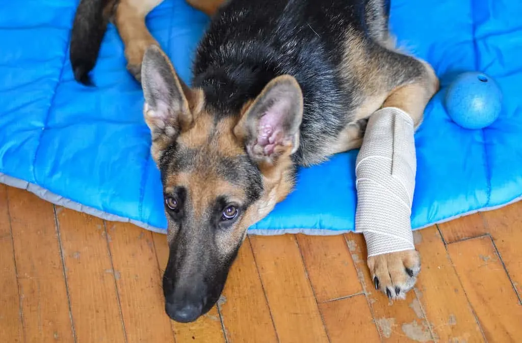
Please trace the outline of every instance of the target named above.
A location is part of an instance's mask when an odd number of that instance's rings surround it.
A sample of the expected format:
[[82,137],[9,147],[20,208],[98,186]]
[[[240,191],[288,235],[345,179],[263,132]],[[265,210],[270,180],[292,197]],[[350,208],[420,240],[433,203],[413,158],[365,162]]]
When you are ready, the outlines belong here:
[[0,185],[0,342],[23,341],[16,265],[9,224],[7,190]]

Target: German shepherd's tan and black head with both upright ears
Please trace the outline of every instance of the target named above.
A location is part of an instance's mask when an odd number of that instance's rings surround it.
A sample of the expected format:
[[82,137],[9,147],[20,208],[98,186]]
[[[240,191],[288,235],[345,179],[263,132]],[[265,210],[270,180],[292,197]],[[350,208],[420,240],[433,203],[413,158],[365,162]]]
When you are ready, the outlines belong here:
[[168,218],[165,311],[191,322],[217,302],[248,227],[293,187],[303,97],[293,77],[280,76],[238,113],[219,113],[156,46],[141,84]]

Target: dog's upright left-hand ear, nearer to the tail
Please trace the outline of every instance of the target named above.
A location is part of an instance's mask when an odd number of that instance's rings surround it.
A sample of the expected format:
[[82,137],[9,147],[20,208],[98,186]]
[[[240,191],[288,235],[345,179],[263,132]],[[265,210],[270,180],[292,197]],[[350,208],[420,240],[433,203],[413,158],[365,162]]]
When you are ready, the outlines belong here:
[[174,70],[157,45],[147,48],[141,65],[141,88],[145,96],[144,116],[152,141],[172,140],[193,121],[194,92]]

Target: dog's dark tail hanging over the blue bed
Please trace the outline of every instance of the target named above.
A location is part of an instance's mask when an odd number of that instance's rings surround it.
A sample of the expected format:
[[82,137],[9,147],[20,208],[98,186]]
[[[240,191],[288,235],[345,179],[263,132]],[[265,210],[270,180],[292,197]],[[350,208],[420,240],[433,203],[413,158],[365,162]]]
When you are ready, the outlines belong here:
[[96,65],[101,42],[118,0],[80,0],[70,39],[70,64],[76,81],[93,85],[89,72]]

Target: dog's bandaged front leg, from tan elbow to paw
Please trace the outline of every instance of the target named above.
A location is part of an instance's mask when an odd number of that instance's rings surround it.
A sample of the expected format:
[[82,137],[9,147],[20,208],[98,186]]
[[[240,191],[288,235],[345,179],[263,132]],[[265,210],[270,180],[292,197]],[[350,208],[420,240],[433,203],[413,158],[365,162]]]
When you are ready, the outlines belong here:
[[355,170],[355,229],[364,234],[375,288],[390,299],[404,299],[420,272],[410,221],[417,166],[413,134],[438,79],[419,64],[419,75],[394,88],[370,116]]

